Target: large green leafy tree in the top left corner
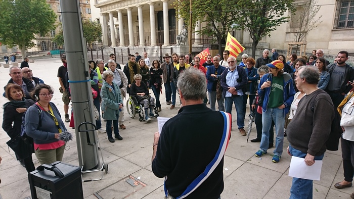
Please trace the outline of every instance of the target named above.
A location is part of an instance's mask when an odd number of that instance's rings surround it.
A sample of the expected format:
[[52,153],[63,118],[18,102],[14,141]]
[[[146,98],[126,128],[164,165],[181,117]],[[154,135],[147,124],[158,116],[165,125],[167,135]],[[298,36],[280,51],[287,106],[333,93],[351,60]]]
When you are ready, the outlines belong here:
[[55,28],[57,15],[46,0],[0,0],[0,42],[16,45],[24,58],[26,49],[35,46],[36,34]]

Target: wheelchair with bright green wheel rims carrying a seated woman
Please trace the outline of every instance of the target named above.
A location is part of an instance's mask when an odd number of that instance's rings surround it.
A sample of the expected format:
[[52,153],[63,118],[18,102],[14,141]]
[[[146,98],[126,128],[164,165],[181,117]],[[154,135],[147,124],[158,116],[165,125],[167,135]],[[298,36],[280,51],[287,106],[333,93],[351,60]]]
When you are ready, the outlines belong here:
[[[157,118],[159,113],[157,112],[156,105],[151,106],[153,108],[153,112],[155,113],[154,116],[150,116],[150,118]],[[145,120],[145,113],[143,105],[138,103],[138,100],[135,96],[130,96],[126,101],[126,110],[130,118],[135,118],[136,114],[139,114],[139,121],[146,121]]]

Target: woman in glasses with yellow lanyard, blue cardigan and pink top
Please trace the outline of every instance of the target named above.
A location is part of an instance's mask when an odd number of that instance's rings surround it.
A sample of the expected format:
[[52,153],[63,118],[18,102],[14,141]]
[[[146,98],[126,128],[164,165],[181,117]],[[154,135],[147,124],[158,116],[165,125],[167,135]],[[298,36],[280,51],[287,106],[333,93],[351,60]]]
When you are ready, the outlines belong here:
[[59,135],[66,127],[58,108],[51,102],[53,89],[50,85],[39,84],[32,97],[37,103],[26,111],[25,128],[26,134],[33,138],[34,154],[41,165],[62,161],[65,142],[59,140]]

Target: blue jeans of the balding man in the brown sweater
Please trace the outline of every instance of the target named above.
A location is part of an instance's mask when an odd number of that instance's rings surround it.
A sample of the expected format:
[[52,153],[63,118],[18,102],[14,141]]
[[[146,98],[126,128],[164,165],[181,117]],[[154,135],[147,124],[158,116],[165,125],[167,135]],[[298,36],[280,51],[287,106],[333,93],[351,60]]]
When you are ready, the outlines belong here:
[[[303,153],[289,144],[289,152],[292,156],[305,158],[306,153]],[[322,160],[325,154],[321,156],[315,156],[314,160]],[[293,178],[292,185],[290,188],[290,199],[300,198],[300,199],[312,199],[313,193],[313,180],[306,180],[302,178]]]

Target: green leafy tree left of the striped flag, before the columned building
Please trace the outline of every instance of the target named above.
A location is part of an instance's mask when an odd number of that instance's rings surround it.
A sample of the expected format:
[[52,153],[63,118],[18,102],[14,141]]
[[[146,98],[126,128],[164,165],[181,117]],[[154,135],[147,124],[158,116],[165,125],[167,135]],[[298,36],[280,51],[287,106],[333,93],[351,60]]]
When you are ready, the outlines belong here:
[[[174,8],[180,17],[184,18],[189,26],[190,0],[174,2]],[[208,25],[199,31],[202,35],[212,36],[219,45],[219,53],[222,53],[222,43],[225,43],[227,33],[235,24],[236,15],[233,10],[237,9],[235,1],[228,0],[193,0],[192,2],[192,29],[197,21],[206,22]],[[188,30],[190,31],[190,30]]]

